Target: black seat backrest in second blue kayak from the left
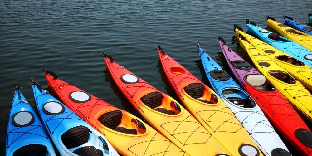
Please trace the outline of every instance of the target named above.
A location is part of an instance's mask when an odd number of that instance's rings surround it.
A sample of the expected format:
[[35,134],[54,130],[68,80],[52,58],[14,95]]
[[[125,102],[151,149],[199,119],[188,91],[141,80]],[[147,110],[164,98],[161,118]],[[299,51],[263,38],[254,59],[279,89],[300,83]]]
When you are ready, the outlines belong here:
[[85,126],[77,126],[62,134],[61,139],[67,149],[78,147],[89,140],[90,129]]

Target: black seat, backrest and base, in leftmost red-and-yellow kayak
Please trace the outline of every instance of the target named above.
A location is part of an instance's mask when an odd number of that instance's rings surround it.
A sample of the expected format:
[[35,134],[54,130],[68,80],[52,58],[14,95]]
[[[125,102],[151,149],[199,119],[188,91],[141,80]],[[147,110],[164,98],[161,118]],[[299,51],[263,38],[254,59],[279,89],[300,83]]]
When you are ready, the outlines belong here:
[[117,132],[126,133],[126,134],[137,134],[136,129],[127,129],[119,126],[122,119],[122,112],[120,110],[111,111],[103,117],[101,123],[107,128],[113,129]]

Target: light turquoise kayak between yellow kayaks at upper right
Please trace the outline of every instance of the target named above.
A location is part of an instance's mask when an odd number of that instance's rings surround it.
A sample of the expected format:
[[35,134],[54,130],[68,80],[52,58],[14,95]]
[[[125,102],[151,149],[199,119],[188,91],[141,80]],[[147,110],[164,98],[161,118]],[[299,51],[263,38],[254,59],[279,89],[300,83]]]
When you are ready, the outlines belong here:
[[270,32],[256,25],[254,22],[246,20],[248,32],[251,32],[261,41],[274,46],[280,51],[294,57],[295,59],[304,62],[307,66],[312,67],[312,51],[301,46],[300,44],[279,36],[276,32]]

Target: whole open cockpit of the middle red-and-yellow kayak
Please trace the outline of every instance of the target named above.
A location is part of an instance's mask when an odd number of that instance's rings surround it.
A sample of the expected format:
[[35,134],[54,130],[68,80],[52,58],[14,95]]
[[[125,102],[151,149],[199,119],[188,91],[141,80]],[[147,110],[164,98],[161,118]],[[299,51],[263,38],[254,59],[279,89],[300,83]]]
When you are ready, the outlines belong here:
[[181,112],[181,107],[168,95],[163,95],[159,91],[151,92],[141,97],[141,101],[149,108],[167,115],[177,115]]

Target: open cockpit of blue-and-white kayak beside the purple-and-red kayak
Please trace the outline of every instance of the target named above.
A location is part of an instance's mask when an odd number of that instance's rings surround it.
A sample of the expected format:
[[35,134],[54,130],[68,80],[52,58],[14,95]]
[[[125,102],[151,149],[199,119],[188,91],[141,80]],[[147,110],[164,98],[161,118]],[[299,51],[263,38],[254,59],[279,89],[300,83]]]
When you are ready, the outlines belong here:
[[253,108],[256,103],[244,91],[236,88],[225,88],[222,90],[222,95],[232,104],[243,108]]

